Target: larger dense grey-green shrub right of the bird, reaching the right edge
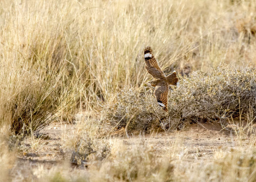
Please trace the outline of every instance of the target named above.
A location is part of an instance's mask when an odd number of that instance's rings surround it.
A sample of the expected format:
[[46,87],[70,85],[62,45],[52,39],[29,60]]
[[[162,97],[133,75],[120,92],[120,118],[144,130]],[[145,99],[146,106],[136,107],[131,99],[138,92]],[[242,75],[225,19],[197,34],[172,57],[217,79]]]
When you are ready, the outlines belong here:
[[180,78],[180,87],[169,94],[169,119],[224,121],[230,116],[256,114],[256,69],[219,67],[212,72],[193,72]]

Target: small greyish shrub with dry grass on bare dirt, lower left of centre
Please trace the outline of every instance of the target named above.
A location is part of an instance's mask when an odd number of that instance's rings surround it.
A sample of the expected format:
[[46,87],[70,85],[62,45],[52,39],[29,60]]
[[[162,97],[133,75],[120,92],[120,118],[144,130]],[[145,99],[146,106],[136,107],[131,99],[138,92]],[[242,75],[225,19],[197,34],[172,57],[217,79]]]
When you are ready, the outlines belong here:
[[91,161],[102,161],[111,152],[111,141],[102,135],[99,122],[90,118],[79,118],[72,137],[64,140],[66,158],[73,165],[87,166]]

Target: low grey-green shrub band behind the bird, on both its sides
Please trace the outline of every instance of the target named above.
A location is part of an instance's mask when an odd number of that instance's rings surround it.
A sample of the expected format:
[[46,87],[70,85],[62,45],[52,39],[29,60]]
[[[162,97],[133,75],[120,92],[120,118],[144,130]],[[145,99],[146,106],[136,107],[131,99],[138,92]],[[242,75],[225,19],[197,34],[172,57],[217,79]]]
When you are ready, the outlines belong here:
[[[193,72],[180,77],[180,86],[170,89],[167,117],[152,92],[122,90],[105,117],[113,126],[146,130],[162,121],[166,128],[186,121],[224,121],[249,112],[256,116],[256,70],[219,67],[212,72]],[[166,119],[161,119],[163,116]],[[241,115],[243,117],[245,115]]]

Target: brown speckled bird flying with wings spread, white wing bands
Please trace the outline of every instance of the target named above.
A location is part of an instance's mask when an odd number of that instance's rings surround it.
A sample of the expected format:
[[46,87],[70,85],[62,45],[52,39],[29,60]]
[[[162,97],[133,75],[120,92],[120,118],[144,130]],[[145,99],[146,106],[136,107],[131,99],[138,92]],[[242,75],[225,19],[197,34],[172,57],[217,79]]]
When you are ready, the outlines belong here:
[[153,50],[149,46],[144,49],[144,60],[145,69],[154,78],[149,84],[155,87],[154,95],[157,99],[157,103],[164,111],[168,112],[169,85],[177,85],[177,72],[174,70],[171,74],[166,76],[157,64]]

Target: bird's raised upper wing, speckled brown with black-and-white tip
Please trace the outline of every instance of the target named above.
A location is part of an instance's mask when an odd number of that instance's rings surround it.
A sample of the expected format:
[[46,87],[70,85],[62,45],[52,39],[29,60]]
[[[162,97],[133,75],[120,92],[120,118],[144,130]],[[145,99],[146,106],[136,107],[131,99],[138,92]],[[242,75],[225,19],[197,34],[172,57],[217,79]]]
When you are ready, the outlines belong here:
[[145,69],[153,78],[164,78],[165,74],[157,64],[156,58],[154,58],[153,51],[150,47],[144,49]]

